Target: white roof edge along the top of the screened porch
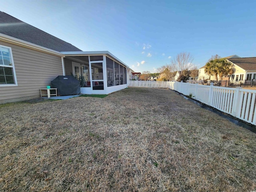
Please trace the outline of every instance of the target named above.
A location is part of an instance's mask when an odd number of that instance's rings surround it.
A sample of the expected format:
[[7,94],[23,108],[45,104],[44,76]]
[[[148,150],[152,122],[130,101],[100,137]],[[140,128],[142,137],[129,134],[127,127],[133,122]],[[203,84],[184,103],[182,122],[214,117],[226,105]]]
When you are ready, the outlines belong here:
[[61,52],[64,56],[90,56],[90,55],[108,55],[110,58],[113,58],[114,60],[117,60],[127,68],[129,68],[128,65],[126,65],[124,62],[122,62],[120,59],[118,59],[116,56],[114,56],[109,51],[68,51],[68,52]]

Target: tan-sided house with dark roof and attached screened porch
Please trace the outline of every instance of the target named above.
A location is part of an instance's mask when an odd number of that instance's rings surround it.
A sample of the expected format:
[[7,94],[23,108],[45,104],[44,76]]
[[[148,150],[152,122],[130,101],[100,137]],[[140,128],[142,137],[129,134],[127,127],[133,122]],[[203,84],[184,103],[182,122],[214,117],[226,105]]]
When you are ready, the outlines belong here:
[[40,88],[70,74],[84,76],[82,94],[109,94],[127,88],[128,69],[108,51],[82,51],[0,12],[0,103],[39,98]]

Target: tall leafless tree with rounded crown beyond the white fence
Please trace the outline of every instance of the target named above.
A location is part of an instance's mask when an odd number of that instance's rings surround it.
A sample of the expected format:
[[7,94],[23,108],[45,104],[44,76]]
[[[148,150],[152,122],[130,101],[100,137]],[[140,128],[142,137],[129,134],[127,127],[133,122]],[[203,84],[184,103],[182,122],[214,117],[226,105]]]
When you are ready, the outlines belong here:
[[190,53],[181,52],[172,60],[172,65],[183,75],[184,70],[189,70],[194,58]]

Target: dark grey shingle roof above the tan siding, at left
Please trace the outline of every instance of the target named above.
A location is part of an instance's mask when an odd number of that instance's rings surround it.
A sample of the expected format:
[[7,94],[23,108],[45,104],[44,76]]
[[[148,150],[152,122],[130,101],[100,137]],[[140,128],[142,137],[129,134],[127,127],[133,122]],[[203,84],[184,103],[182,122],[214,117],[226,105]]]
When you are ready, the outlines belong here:
[[0,11],[0,33],[56,51],[81,51],[30,24]]

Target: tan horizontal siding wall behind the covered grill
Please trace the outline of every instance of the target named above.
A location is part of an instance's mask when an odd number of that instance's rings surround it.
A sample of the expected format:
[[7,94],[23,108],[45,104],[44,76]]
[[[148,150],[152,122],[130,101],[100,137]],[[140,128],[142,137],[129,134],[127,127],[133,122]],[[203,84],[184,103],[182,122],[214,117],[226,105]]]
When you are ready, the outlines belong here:
[[18,86],[0,86],[0,103],[40,97],[40,88],[62,73],[60,56],[24,48],[0,41],[0,45],[12,48],[12,56]]

